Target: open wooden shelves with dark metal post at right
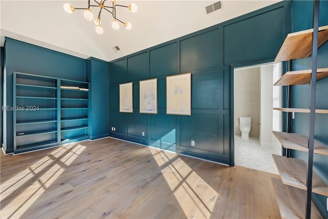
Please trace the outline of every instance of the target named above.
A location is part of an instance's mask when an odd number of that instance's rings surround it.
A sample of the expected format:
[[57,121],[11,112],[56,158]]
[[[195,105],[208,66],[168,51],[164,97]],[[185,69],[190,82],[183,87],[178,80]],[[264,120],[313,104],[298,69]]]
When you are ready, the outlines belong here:
[[321,218],[312,203],[312,192],[328,196],[328,186],[313,172],[313,154],[328,155],[328,146],[314,140],[315,113],[328,113],[326,109],[315,109],[316,81],[328,76],[328,68],[317,69],[317,49],[328,41],[328,26],[318,27],[318,14],[319,1],[315,1],[313,29],[288,34],[275,58],[275,62],[283,62],[312,54],[311,70],[286,72],[275,83],[275,86],[289,86],[289,89],[292,85],[311,83],[309,109],[291,108],[291,93],[288,97],[289,108],[274,108],[288,112],[289,123],[291,112],[310,113],[309,136],[290,133],[290,128],[288,132],[273,132],[284,148],[308,152],[307,163],[289,157],[288,150],[286,157],[273,154],[281,178],[281,181],[273,178],[273,184],[282,218]]

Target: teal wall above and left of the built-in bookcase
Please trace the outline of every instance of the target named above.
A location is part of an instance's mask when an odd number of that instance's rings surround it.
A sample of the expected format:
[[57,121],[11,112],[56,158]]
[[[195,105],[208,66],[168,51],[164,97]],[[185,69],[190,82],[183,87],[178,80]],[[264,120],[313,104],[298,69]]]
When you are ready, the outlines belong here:
[[[6,105],[13,106],[13,72],[38,74],[76,81],[86,81],[86,61],[64,53],[6,38],[5,43]],[[13,112],[5,115],[6,152],[13,151]]]

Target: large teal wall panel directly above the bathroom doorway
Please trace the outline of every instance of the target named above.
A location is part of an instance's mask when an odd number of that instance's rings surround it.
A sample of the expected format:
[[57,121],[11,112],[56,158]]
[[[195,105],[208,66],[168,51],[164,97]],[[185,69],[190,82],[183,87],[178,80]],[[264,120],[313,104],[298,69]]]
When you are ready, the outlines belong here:
[[[277,54],[284,40],[284,13],[284,7],[278,7],[224,26],[224,64],[252,62]],[[268,39],[275,40],[268,43]]]

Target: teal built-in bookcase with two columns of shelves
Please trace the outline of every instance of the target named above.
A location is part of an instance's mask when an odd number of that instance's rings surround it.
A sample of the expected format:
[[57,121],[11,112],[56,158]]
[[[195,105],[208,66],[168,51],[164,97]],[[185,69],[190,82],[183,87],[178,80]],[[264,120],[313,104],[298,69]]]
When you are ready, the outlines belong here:
[[13,106],[15,154],[89,138],[87,82],[14,72]]

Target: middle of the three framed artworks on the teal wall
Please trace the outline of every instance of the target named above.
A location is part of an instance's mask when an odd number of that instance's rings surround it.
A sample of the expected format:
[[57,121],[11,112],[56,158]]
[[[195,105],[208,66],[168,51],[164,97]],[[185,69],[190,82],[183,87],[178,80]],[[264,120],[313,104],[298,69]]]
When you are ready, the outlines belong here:
[[157,78],[139,82],[139,112],[157,113]]

